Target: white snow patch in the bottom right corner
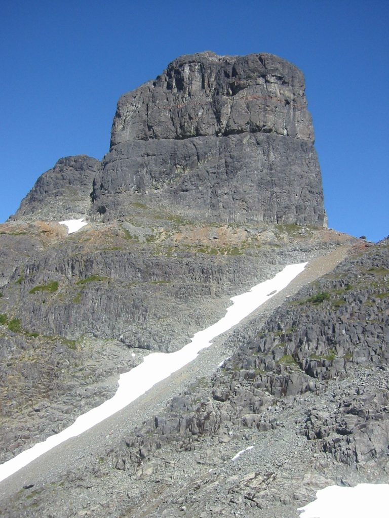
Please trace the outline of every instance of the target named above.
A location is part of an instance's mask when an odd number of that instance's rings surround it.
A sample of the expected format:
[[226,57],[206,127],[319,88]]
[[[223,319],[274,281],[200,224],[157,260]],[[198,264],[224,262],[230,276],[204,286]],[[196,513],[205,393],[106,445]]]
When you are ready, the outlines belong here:
[[328,486],[316,497],[298,509],[300,518],[387,518],[389,513],[389,484]]

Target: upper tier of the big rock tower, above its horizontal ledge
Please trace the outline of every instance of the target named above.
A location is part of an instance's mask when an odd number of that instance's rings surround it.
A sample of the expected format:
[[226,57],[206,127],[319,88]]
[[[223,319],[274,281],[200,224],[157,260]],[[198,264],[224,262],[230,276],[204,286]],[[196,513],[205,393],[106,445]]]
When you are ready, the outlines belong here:
[[177,57],[124,94],[111,147],[128,140],[274,133],[313,142],[301,71],[271,54]]

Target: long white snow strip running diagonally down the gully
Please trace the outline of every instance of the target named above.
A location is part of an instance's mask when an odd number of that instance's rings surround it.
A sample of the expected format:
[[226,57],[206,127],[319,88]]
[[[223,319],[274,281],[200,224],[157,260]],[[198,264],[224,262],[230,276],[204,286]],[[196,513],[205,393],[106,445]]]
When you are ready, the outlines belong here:
[[273,279],[257,284],[247,293],[232,297],[230,300],[232,300],[233,304],[227,309],[226,316],[221,318],[216,324],[196,333],[191,342],[179,351],[174,353],[152,353],[146,356],[143,363],[120,375],[119,388],[112,398],[105,401],[99,407],[80,415],[71,426],[68,426],[59,434],[48,437],[44,442],[35,444],[29,450],[25,450],[2,464],[0,466],[0,481],[61,442],[71,437],[76,437],[92,428],[92,426],[101,423],[110,415],[126,407],[151,389],[156,383],[168,378],[173,372],[193,361],[201,349],[211,346],[212,339],[225,333],[277,292],[283,290],[291,280],[303,271],[307,264],[288,265]]

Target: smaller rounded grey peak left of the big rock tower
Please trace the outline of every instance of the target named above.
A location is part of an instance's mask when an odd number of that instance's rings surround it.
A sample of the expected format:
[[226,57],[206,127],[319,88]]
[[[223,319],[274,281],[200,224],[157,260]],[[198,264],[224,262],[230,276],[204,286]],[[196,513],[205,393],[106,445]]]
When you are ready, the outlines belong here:
[[10,220],[64,220],[85,216],[100,162],[87,155],[66,156],[44,172]]

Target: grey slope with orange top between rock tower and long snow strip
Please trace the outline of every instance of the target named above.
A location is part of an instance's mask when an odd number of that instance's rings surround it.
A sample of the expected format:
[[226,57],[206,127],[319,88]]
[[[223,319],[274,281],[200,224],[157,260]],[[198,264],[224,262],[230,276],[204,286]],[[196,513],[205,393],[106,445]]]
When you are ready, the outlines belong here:
[[[132,368],[133,351],[140,361],[145,350],[182,347],[231,295],[349,240],[297,226],[178,225],[137,210],[131,224],[93,222],[70,236],[56,222],[2,225],[2,460],[112,394],[116,378],[101,383]],[[48,394],[55,410],[37,419]]]

